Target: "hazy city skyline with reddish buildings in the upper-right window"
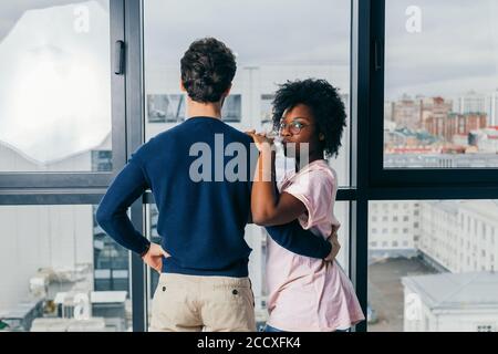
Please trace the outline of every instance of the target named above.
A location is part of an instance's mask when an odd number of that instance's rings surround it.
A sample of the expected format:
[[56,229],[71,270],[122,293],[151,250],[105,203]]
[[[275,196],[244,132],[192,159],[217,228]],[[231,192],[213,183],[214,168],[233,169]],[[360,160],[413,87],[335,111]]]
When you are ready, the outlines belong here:
[[[468,154],[460,159],[470,163],[460,166],[464,168],[495,167],[497,158],[486,157],[491,163],[486,166],[478,160],[497,152],[498,91],[483,94],[470,90],[456,97],[404,94],[397,101],[384,102],[384,167],[435,167],[424,165],[422,157],[435,154],[447,155],[448,159],[454,159],[455,154]],[[396,157],[409,154],[421,160],[411,165],[409,158]],[[471,155],[478,157],[473,159]]]

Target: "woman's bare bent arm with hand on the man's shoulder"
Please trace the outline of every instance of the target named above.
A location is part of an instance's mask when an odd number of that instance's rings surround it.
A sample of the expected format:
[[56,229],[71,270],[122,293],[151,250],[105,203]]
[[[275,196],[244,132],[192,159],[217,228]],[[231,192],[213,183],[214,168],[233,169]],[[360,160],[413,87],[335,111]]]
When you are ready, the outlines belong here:
[[264,135],[250,134],[260,152],[251,191],[252,221],[259,226],[277,226],[295,220],[307,212],[301,200],[274,190],[274,152],[271,139]]

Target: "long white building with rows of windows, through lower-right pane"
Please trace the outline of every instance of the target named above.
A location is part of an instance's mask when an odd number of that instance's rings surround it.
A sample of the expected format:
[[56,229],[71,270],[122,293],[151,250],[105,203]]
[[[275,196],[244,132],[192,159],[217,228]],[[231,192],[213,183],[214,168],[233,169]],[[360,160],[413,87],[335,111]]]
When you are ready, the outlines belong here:
[[444,272],[498,269],[498,202],[372,201],[370,258],[422,256]]

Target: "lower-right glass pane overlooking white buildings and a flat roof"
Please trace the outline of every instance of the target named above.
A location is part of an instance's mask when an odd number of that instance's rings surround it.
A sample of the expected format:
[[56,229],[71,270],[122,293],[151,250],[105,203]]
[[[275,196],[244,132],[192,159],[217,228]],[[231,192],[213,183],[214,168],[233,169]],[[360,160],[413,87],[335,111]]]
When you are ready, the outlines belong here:
[[369,215],[370,331],[498,330],[498,201],[372,201]]

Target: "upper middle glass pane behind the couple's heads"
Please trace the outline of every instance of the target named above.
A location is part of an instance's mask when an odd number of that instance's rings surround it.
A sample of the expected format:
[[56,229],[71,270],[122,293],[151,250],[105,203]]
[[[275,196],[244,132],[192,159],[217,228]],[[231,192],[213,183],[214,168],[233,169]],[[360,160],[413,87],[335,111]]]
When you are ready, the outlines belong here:
[[[214,13],[222,20],[214,22]],[[277,84],[295,79],[326,79],[340,87],[349,113],[350,22],[350,0],[145,1],[146,140],[185,119],[179,61],[194,40],[207,35],[237,54],[237,74],[222,112],[234,127],[268,129]],[[349,186],[346,132],[338,159],[330,162],[341,186]]]

